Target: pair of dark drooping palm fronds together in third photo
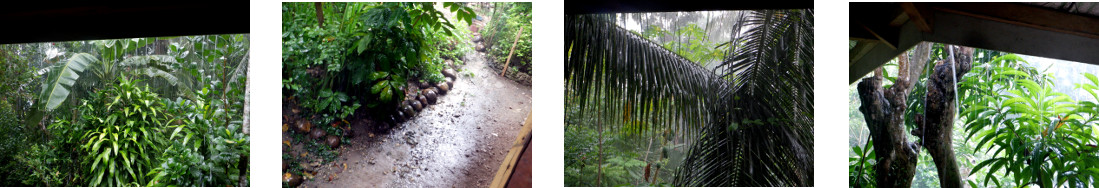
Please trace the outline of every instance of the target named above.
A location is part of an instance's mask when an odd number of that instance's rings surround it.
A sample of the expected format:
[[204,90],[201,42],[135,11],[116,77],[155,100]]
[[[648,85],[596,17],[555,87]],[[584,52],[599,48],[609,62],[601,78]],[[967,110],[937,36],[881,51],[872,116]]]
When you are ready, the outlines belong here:
[[566,96],[610,130],[675,130],[676,185],[812,186],[812,10],[742,19],[713,73],[610,15],[566,15]]

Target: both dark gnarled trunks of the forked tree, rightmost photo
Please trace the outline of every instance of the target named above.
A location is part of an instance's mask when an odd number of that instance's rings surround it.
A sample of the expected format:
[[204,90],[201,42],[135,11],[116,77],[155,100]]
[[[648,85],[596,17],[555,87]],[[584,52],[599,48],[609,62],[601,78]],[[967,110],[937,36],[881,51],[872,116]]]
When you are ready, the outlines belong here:
[[[917,58],[909,62],[901,55],[897,82],[889,89],[881,88],[880,69],[874,77],[858,84],[859,111],[866,117],[874,152],[878,163],[875,166],[878,187],[911,187],[915,173],[920,147],[928,148],[939,170],[941,187],[962,187],[962,175],[954,156],[951,134],[954,130],[955,79],[969,71],[973,48],[947,46],[948,58],[935,64],[928,78],[928,95],[924,98],[924,114],[915,115],[917,129],[911,133],[921,142],[909,142],[904,132],[906,101],[912,86],[920,78],[928,62],[930,44],[917,47]],[[952,68],[953,67],[953,68]]]

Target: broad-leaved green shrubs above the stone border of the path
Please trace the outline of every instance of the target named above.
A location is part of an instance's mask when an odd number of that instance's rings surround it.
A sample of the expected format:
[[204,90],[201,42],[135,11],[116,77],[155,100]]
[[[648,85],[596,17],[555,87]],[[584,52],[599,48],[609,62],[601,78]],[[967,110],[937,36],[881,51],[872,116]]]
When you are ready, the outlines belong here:
[[[468,45],[455,33],[476,16],[459,3],[284,3],[282,88],[332,122],[359,108],[396,109],[411,81],[443,80],[444,60]],[[318,12],[320,10],[321,12]],[[442,11],[452,11],[448,20]],[[323,19],[320,19],[323,18]]]

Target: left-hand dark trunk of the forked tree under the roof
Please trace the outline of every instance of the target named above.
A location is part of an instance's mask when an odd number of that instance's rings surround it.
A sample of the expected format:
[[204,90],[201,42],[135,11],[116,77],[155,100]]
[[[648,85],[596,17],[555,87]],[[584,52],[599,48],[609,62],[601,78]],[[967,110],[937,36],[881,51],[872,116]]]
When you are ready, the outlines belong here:
[[882,74],[878,69],[874,77],[864,78],[858,82],[858,96],[862,107],[858,108],[866,118],[866,126],[874,139],[874,152],[877,156],[875,172],[877,187],[911,187],[915,175],[919,145],[909,142],[904,129],[904,110],[908,109],[908,93],[919,80],[926,65],[931,44],[917,46],[914,60],[909,60],[907,54],[901,54],[898,60],[897,82],[889,89],[881,87]]

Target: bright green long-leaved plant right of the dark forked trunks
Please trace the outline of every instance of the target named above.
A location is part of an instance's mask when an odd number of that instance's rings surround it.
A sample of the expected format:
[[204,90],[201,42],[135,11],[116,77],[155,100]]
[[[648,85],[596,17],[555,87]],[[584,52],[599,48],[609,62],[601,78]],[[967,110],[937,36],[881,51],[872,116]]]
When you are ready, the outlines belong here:
[[[1099,177],[1092,170],[1099,167],[1096,104],[1053,91],[1053,78],[1024,63],[1013,54],[998,56],[958,84],[959,90],[969,90],[961,98],[965,140],[976,142],[975,150],[991,153],[974,172],[987,169],[981,177],[985,186],[1008,184],[993,175],[1001,169],[1019,186],[1090,185]],[[1077,88],[1099,99],[1094,91],[1099,80],[1084,75],[1091,82]]]

